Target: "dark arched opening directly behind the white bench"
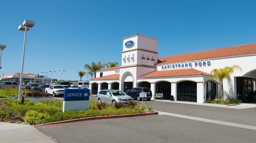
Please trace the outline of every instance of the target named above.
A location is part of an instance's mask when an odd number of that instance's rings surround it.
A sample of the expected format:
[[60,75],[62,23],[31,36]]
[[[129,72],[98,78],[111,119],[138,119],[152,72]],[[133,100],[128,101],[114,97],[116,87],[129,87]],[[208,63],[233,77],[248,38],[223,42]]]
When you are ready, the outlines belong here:
[[156,93],[162,93],[163,99],[171,99],[172,84],[168,81],[160,81],[156,83]]

